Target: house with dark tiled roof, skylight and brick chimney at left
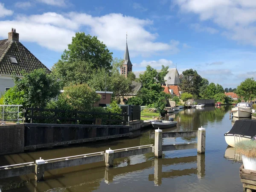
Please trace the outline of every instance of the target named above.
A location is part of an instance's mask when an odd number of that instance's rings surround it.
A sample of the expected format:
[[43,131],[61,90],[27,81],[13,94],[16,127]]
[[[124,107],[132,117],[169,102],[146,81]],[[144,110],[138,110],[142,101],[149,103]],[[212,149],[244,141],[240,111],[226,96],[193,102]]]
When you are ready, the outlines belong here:
[[0,95],[14,86],[12,75],[22,77],[21,71],[30,73],[35,69],[51,71],[19,41],[16,29],[8,33],[8,39],[0,40]]

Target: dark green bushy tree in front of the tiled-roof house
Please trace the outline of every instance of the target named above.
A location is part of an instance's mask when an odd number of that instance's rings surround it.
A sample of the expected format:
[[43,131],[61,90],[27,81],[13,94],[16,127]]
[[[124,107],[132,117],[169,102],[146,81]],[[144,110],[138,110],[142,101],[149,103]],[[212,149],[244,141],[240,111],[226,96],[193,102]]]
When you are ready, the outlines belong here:
[[23,102],[27,107],[44,108],[47,102],[60,93],[58,79],[52,74],[47,74],[44,69],[34,70],[31,73],[23,71],[22,75],[23,78],[14,77],[14,89],[23,95]]

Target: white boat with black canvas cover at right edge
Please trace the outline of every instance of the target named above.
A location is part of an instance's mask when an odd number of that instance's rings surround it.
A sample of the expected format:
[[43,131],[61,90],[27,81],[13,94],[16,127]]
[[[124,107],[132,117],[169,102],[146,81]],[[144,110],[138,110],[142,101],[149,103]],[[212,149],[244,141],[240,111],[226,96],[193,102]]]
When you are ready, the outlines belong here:
[[226,143],[235,147],[236,143],[256,137],[256,120],[236,120],[230,131],[224,134]]

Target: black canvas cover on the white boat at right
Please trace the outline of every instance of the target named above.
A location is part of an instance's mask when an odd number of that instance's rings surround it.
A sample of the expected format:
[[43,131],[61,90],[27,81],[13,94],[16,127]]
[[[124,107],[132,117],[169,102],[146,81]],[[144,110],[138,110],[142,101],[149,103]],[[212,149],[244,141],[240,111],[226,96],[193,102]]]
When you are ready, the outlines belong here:
[[256,135],[256,120],[242,119],[236,120],[232,129],[227,134],[254,137]]

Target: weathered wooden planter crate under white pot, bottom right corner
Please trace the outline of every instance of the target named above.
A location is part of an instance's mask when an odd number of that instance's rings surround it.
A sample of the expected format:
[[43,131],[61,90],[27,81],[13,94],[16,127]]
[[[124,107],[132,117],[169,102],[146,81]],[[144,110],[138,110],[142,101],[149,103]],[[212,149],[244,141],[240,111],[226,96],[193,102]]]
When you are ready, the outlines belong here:
[[244,169],[244,164],[239,169],[241,182],[243,183],[243,192],[256,191],[256,171]]

